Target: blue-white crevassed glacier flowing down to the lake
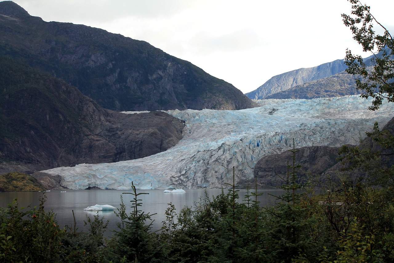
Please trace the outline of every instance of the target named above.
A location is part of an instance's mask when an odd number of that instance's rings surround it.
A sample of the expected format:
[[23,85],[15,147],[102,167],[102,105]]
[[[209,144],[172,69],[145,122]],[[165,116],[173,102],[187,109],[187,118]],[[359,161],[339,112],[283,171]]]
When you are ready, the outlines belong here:
[[[86,164],[41,171],[62,177],[70,189],[226,188],[253,177],[265,155],[292,147],[358,144],[375,121],[383,127],[394,116],[394,104],[369,111],[372,100],[358,95],[312,100],[256,100],[260,107],[238,111],[169,110],[184,120],[183,138],[165,152],[116,163]],[[135,112],[124,112],[135,113]],[[284,160],[285,162],[285,160]]]

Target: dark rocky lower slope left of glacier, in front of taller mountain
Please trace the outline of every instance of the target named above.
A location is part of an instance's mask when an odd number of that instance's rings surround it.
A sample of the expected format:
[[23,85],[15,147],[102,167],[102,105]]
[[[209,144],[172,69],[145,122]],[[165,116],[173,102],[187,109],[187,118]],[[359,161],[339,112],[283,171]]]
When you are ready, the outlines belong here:
[[0,57],[0,173],[118,162],[167,150],[184,122],[103,109],[77,88]]

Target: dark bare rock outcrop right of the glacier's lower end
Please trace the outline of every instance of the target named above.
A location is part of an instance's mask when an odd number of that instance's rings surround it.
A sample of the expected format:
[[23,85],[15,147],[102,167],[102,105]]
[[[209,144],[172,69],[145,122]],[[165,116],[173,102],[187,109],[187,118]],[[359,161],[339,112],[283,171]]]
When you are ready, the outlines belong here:
[[[391,135],[394,135],[394,118],[392,118],[384,127]],[[393,149],[383,149],[374,142],[370,137],[363,139],[359,145],[361,148],[369,148],[375,151],[381,151],[383,154],[392,154]],[[298,148],[296,152],[296,164],[300,164],[301,168],[297,169],[297,176],[301,180],[307,178],[307,175],[336,175],[341,172],[344,167],[342,163],[336,159],[339,157],[339,147],[327,146],[310,146]],[[259,186],[280,186],[283,184],[281,179],[286,177],[287,161],[292,165],[293,153],[286,151],[280,154],[272,154],[262,157],[255,166],[254,176],[257,177]],[[381,157],[382,164],[391,166],[394,164],[394,156],[386,155]],[[365,171],[353,172],[355,176],[365,175]],[[250,183],[250,182],[249,182]],[[238,184],[246,186],[245,180]]]

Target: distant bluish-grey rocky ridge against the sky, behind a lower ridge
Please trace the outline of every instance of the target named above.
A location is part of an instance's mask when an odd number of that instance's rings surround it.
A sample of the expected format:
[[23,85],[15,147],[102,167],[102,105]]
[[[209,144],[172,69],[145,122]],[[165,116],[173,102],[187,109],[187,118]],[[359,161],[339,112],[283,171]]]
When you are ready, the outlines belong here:
[[266,83],[258,87],[256,90],[245,94],[248,98],[260,100],[268,97],[271,94],[288,90],[297,85],[323,79],[340,73],[348,68],[344,64],[344,60],[334,60],[332,62],[324,63],[313,68],[300,68],[286,73],[282,73],[271,77]]

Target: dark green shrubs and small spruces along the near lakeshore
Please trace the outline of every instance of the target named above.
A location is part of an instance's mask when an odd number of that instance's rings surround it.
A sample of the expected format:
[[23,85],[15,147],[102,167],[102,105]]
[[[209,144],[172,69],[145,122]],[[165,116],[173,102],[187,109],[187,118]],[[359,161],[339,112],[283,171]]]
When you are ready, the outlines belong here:
[[[109,240],[98,215],[82,233],[60,228],[44,211],[45,199],[27,212],[12,203],[0,215],[0,262],[392,262],[392,187],[342,185],[324,201],[288,191],[268,209],[251,195],[238,203],[236,190],[179,213],[170,203],[161,233],[151,231],[149,214],[126,214],[123,205]],[[292,181],[288,187],[298,188]]]

